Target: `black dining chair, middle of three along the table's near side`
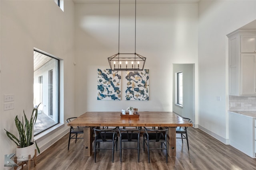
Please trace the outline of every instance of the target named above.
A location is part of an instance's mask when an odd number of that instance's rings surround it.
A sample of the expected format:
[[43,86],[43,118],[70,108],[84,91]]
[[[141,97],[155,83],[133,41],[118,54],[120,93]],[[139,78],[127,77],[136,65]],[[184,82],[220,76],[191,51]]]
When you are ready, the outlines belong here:
[[[122,162],[122,150],[123,149],[137,149],[138,150],[138,162],[140,162],[140,131],[141,127],[136,129],[120,129],[118,128],[120,135],[120,162]],[[122,147],[122,142],[137,142],[137,147]]]

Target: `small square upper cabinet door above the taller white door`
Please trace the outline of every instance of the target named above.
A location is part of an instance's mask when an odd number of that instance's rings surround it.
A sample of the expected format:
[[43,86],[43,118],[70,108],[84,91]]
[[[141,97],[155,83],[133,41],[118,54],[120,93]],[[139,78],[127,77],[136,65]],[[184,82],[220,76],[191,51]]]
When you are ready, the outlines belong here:
[[241,53],[256,53],[255,35],[241,35]]

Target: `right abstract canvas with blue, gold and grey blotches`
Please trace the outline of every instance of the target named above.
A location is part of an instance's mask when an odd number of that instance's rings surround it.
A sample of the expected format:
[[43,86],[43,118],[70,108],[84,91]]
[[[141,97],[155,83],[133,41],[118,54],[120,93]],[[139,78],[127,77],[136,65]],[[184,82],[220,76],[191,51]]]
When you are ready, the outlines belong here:
[[149,100],[149,70],[126,71],[126,100]]

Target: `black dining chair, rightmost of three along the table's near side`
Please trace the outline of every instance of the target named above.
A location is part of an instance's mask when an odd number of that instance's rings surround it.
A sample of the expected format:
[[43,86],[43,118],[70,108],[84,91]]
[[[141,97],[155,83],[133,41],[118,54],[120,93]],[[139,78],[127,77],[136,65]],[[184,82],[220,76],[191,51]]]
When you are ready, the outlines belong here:
[[[145,151],[145,144],[148,147],[148,163],[150,163],[150,152],[149,150],[166,150],[166,163],[168,163],[167,154],[167,133],[168,129],[148,129],[144,127],[145,133],[143,133],[143,150]],[[154,147],[150,148],[150,143],[161,143],[161,148]],[[164,148],[163,148],[164,144]]]

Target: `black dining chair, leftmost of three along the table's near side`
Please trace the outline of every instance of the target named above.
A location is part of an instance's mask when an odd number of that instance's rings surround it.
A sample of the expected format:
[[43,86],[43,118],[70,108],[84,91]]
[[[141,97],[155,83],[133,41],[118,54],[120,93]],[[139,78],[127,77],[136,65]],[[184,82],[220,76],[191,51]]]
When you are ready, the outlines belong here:
[[[116,145],[116,150],[117,150],[117,141],[118,141],[118,136],[117,136],[117,128],[104,128],[104,129],[97,129],[94,128],[94,135],[95,135],[95,140],[94,140],[94,162],[96,162],[96,150],[100,149],[112,149],[112,162],[114,162],[114,147]],[[100,148],[100,143],[101,142],[112,142],[112,148]],[[98,148],[96,148],[98,145]]]

